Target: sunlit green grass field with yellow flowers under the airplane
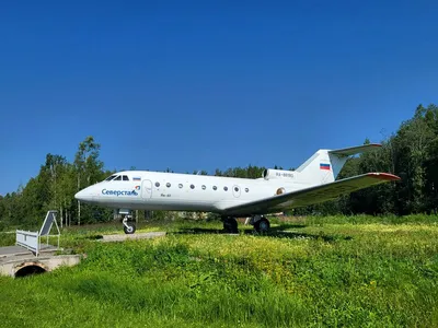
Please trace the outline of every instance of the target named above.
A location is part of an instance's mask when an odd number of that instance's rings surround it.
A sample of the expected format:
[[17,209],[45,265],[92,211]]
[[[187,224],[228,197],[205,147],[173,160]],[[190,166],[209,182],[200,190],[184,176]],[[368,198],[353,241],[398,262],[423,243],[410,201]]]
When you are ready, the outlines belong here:
[[[64,231],[87,258],[0,278],[1,327],[438,327],[438,218],[301,218],[269,235],[151,223],[165,237],[104,244],[119,225]],[[2,245],[14,235],[0,235]]]

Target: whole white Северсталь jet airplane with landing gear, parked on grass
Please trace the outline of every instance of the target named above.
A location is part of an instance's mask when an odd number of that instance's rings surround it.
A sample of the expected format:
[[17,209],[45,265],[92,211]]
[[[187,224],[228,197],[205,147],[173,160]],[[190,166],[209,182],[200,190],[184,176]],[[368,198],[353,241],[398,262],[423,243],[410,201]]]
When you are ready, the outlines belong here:
[[201,211],[219,213],[227,232],[235,233],[235,218],[249,216],[258,232],[269,230],[265,214],[323,202],[343,194],[399,180],[389,173],[367,173],[335,180],[347,159],[378,149],[365,144],[319,150],[296,171],[265,169],[256,179],[149,171],[123,171],[76,194],[79,201],[118,210],[124,231],[136,226],[132,210]]

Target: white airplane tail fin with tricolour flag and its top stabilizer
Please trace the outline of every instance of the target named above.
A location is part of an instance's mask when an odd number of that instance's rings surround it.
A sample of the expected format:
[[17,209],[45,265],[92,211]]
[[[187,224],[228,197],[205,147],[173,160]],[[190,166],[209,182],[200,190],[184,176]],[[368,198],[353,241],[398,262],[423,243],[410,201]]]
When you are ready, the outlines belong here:
[[310,185],[333,183],[349,156],[369,152],[380,147],[378,143],[370,143],[337,150],[319,150],[296,172],[299,173],[300,180]]

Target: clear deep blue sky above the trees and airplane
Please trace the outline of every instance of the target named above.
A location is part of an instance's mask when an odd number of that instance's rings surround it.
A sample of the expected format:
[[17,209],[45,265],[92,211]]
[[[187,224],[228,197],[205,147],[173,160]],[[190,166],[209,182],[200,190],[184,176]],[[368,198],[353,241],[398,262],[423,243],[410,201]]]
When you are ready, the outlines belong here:
[[3,1],[0,195],[108,169],[297,167],[438,103],[437,1]]

